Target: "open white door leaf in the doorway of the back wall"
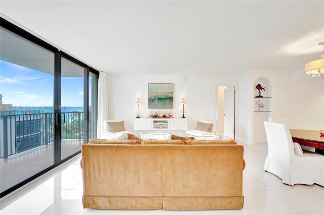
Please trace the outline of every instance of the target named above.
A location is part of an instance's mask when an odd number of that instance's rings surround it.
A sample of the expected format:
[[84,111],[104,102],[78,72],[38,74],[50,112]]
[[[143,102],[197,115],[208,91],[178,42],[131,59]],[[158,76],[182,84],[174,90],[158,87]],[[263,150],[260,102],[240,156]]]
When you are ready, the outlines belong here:
[[235,87],[224,89],[224,136],[235,139]]

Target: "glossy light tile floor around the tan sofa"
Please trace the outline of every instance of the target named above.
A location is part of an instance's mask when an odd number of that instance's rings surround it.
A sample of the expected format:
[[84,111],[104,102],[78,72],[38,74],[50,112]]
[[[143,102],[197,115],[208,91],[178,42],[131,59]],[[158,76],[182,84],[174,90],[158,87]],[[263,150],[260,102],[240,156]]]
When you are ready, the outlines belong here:
[[[239,144],[239,141],[237,141]],[[99,210],[83,209],[80,154],[20,192],[6,196],[0,214],[324,214],[324,188],[289,186],[263,171],[267,145],[244,145],[244,208],[235,210]]]

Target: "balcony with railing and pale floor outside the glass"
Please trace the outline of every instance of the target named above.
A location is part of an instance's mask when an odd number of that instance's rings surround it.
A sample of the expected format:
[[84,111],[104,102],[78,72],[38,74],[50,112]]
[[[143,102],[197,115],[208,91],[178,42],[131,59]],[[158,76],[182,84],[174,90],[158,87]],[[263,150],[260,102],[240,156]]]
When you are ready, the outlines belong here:
[[[8,113],[7,113],[8,114]],[[61,158],[81,150],[83,112],[64,112]],[[54,113],[0,116],[1,192],[54,165]]]

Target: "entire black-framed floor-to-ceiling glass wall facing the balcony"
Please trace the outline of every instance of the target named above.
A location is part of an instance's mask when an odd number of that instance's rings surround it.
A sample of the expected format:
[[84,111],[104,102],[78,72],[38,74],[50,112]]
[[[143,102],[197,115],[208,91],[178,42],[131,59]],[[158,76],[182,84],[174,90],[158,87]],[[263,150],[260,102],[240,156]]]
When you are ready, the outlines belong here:
[[0,24],[2,197],[96,137],[99,72],[3,18]]

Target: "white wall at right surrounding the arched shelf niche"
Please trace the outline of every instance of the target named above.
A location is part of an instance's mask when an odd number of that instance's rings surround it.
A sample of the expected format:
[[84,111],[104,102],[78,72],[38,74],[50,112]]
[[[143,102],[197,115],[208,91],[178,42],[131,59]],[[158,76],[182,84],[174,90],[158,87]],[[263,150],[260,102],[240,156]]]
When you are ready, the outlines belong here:
[[[324,128],[324,80],[298,71],[250,71],[239,76],[239,140],[254,144],[254,133],[263,125],[254,125],[254,81],[265,77],[271,82],[272,117],[287,118],[291,129]],[[249,128],[251,131],[249,133]],[[266,143],[258,140],[257,143]]]

